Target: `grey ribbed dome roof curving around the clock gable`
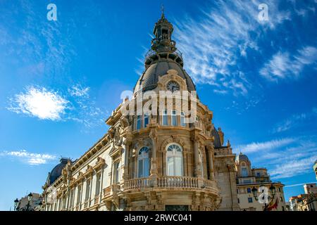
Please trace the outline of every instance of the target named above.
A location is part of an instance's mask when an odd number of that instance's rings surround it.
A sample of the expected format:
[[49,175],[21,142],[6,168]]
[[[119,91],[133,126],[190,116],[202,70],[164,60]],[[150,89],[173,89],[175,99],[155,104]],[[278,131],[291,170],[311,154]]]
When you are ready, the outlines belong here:
[[178,75],[182,77],[182,79],[186,80],[188,91],[196,91],[194,82],[192,82],[192,79],[180,64],[170,59],[161,59],[149,65],[149,67],[143,72],[142,76],[139,77],[139,80],[135,85],[134,92],[136,93],[139,91],[141,86],[144,91],[155,89],[157,83],[159,82],[159,77],[167,75],[168,70],[176,70]]

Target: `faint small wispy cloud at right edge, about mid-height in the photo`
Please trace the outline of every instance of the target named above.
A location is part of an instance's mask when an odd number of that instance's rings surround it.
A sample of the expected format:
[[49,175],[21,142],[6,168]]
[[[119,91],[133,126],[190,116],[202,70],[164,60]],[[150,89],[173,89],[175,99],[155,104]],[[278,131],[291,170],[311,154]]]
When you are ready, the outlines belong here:
[[[307,122],[312,123],[311,119],[317,117],[317,108],[313,108],[310,112],[291,115],[286,120],[275,124],[273,133],[280,133],[293,128],[305,125]],[[314,122],[316,124],[316,121]]]

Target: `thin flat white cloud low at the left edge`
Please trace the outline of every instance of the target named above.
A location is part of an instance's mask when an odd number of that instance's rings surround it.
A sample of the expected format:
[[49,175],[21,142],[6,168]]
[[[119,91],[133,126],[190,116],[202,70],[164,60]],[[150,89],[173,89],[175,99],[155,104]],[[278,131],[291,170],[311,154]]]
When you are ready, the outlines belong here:
[[29,153],[27,150],[3,151],[0,153],[0,157],[18,158],[29,165],[42,165],[56,160],[55,155]]

